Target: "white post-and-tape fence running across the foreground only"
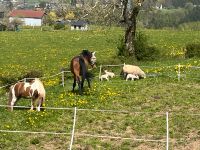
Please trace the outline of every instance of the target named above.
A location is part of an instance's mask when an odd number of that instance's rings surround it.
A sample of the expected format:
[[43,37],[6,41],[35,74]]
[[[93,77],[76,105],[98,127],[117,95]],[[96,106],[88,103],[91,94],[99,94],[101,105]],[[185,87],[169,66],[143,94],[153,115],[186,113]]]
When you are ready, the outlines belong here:
[[[0,105],[0,107],[9,107],[7,105]],[[26,106],[14,106],[16,108],[30,108]],[[22,130],[2,130],[0,129],[0,132],[2,133],[22,133],[22,134],[44,134],[44,135],[65,135],[65,136],[71,136],[70,144],[69,144],[69,150],[73,149],[73,143],[74,143],[74,137],[93,137],[93,138],[103,138],[103,139],[120,139],[120,140],[132,140],[137,142],[156,142],[156,143],[165,143],[166,144],[166,150],[169,149],[169,115],[168,112],[166,113],[152,113],[152,112],[134,112],[134,111],[123,111],[123,110],[97,110],[97,109],[79,109],[77,107],[74,108],[56,108],[56,107],[41,107],[43,109],[51,109],[51,110],[74,110],[73,114],[73,124],[71,133],[66,132],[49,132],[49,131],[22,131]],[[166,115],[166,140],[165,139],[147,139],[147,138],[134,138],[134,137],[123,137],[123,136],[112,136],[112,135],[100,135],[100,134],[87,134],[87,133],[78,133],[75,132],[76,123],[77,122],[77,111],[94,111],[94,112],[111,112],[111,113],[126,113],[126,114],[154,114],[159,116],[165,116]]]

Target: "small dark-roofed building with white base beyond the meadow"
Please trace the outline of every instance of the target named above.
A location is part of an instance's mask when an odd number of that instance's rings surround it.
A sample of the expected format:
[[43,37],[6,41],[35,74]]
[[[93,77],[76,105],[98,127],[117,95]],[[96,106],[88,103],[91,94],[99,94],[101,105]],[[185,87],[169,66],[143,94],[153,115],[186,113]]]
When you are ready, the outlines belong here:
[[72,21],[71,30],[88,30],[88,24],[84,20]]

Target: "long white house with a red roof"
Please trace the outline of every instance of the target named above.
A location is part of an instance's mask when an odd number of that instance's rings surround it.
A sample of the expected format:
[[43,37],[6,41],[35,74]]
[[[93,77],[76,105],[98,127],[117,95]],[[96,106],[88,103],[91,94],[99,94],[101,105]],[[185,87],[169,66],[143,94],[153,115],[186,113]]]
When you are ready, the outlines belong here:
[[9,14],[9,21],[20,19],[25,26],[41,26],[45,12],[41,10],[13,10]]

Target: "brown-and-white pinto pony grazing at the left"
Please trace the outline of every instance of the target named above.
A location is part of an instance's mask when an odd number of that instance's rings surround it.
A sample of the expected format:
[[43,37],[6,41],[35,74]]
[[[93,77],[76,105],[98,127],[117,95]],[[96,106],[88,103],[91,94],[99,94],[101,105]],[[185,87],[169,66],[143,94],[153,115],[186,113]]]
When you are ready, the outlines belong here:
[[45,100],[45,89],[42,82],[35,78],[30,82],[18,82],[10,87],[8,105],[11,111],[15,102],[20,98],[31,98],[31,110],[34,109],[34,104],[37,101],[37,111],[40,111]]

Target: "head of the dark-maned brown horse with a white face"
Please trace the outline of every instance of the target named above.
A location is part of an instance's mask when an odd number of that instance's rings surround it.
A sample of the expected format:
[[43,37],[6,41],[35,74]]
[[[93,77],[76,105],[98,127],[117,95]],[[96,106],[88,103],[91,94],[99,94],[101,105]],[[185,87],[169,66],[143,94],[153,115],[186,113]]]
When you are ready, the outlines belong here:
[[88,50],[83,50],[81,54],[83,55],[84,58],[87,59],[87,61],[89,62],[89,64],[92,67],[95,67],[95,64],[96,64],[95,52],[90,52]]

